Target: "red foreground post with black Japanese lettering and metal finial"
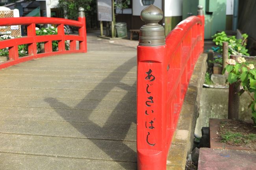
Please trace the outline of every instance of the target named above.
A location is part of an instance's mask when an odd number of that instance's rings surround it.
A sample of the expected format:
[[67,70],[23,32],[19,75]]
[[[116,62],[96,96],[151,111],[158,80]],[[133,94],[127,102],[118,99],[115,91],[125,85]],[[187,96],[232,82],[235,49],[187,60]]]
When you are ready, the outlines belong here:
[[165,170],[167,144],[167,62],[163,11],[149,5],[141,11],[146,23],[137,47],[137,163],[138,170]]

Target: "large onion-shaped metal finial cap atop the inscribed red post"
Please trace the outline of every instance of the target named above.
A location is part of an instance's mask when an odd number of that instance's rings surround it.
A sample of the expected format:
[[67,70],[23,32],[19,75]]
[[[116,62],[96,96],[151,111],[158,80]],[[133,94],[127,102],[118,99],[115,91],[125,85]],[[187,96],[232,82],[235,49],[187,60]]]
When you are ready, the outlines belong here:
[[161,46],[165,44],[165,31],[158,22],[163,19],[163,11],[149,5],[141,11],[141,20],[146,24],[140,28],[139,45]]

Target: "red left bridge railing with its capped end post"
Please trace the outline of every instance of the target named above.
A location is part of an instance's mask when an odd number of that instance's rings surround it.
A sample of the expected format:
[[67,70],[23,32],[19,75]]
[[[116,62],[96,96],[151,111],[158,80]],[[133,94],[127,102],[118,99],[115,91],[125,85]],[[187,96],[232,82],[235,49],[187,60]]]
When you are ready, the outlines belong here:
[[[27,25],[27,36],[0,41],[0,49],[8,48],[9,60],[0,63],[0,69],[6,68],[20,62],[35,58],[41,58],[66,53],[86,53],[86,25],[84,9],[79,9],[78,21],[63,18],[48,17],[19,17],[0,18],[0,26]],[[35,24],[56,24],[57,35],[36,35]],[[78,35],[65,35],[64,25],[78,27]],[[58,51],[52,51],[52,41],[58,41]],[[70,40],[69,50],[65,50],[65,41]],[[76,41],[79,41],[79,49],[76,49]],[[37,53],[37,43],[44,42],[45,53]],[[19,57],[18,46],[28,44],[28,56]]]

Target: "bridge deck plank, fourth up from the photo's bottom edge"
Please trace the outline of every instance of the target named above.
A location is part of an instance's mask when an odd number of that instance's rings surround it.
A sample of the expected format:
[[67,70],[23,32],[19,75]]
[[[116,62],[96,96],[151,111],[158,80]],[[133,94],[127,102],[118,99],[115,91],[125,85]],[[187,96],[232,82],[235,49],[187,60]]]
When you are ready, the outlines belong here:
[[1,119],[24,119],[32,121],[61,121],[95,124],[135,125],[135,112],[69,110],[51,108],[24,108],[0,106]]

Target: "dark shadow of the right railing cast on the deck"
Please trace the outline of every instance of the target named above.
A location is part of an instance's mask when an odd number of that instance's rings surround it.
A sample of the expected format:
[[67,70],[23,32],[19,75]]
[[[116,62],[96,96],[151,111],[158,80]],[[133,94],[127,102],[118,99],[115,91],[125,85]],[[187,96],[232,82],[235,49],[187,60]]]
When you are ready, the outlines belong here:
[[[127,65],[127,63],[132,62],[132,61],[134,61],[134,65],[131,65],[131,64]],[[110,126],[108,123],[106,123],[106,124],[104,124],[103,127],[101,127],[98,124],[96,124],[95,122],[91,121],[89,119],[89,117],[92,114],[93,110],[97,106],[100,105],[100,102],[102,101],[102,99],[104,99],[104,97],[106,97],[106,95],[109,93],[109,91],[111,91],[113,88],[119,87],[119,88],[122,88],[123,90],[126,90],[126,91],[134,91],[132,96],[129,95],[128,93],[126,93],[126,95],[124,95],[124,97],[122,98],[122,101],[123,100],[127,101],[127,100],[133,99],[131,106],[124,105],[120,101],[117,101],[119,103],[114,108],[111,115],[108,117],[108,121],[106,121],[106,122],[115,121],[117,119],[117,114],[116,114],[117,112],[119,113],[118,114],[119,117],[125,117],[125,114],[131,114],[131,113],[125,112],[125,110],[127,108],[133,108],[131,112],[132,112],[132,115],[134,116],[134,119],[128,119],[127,120],[128,122],[127,121],[124,122],[124,124],[126,124],[126,126],[123,126],[121,128],[122,133],[118,134],[119,139],[114,139],[115,141],[120,141],[122,152],[118,152],[116,146],[111,145],[111,148],[109,148],[109,145],[108,146],[102,146],[101,143],[98,142],[98,140],[95,140],[95,139],[92,139],[92,138],[88,137],[88,136],[90,136],[89,134],[91,134],[91,132],[89,132],[88,129],[86,129],[88,126],[86,126],[86,125],[84,125],[84,126],[79,125],[78,126],[77,123],[70,122],[70,116],[75,117],[76,116],[76,110],[81,110],[82,106],[85,106],[86,104],[88,104],[86,102],[86,100],[81,100],[81,102],[78,103],[74,108],[71,108],[71,107],[67,106],[65,103],[58,101],[57,99],[49,99],[49,98],[45,99],[45,101],[48,102],[52,108],[58,108],[58,109],[55,109],[55,111],[61,117],[63,117],[63,119],[65,119],[67,122],[69,122],[74,128],[76,128],[78,130],[78,132],[82,133],[85,136],[86,139],[90,139],[98,148],[100,148],[102,151],[104,151],[113,161],[117,161],[120,166],[122,166],[124,169],[127,169],[127,170],[130,170],[131,168],[132,169],[137,169],[136,148],[134,148],[134,150],[133,150],[132,148],[130,148],[129,146],[127,146],[125,143],[122,142],[122,141],[126,141],[125,138],[126,138],[126,135],[128,134],[128,131],[129,131],[130,127],[135,126],[135,125],[132,125],[132,123],[136,124],[136,84],[133,84],[132,86],[130,86],[128,84],[122,83],[121,80],[123,79],[123,77],[126,76],[126,73],[128,71],[130,71],[134,66],[136,66],[135,63],[136,63],[136,56],[127,60],[124,64],[122,64],[121,66],[116,68],[112,73],[110,73],[108,75],[108,77],[106,77],[104,80],[102,80],[97,86],[95,86],[95,88],[91,92],[89,92],[84,97],[84,99],[87,99],[90,96],[98,95],[98,93],[96,93],[95,91],[97,91],[101,87],[104,87],[105,91],[102,91],[102,94],[100,96],[100,100],[96,101],[93,106],[90,106],[90,108],[91,108],[90,110],[85,110],[85,114],[87,114],[87,115],[86,115],[86,118],[83,120],[83,122],[90,123],[90,125],[89,125],[90,129],[93,129],[93,132],[95,134],[102,134],[106,131],[115,134],[115,132],[117,130],[113,131],[113,129],[111,128],[113,126]],[[119,70],[121,68],[123,68],[123,70],[125,70],[125,71],[119,72]],[[111,84],[111,86],[105,86],[106,81],[109,81],[109,79],[111,79],[111,77],[113,77],[113,74],[115,72],[119,72],[119,74],[120,74],[120,77],[119,77],[119,79],[120,79],[119,82],[120,83],[119,84]],[[72,115],[67,116],[67,114],[65,114],[64,112],[61,112],[61,109],[59,109],[59,108],[68,108],[68,109],[74,110],[74,111],[72,112]],[[102,114],[104,114],[104,111],[102,111]],[[102,135],[104,135],[104,134],[102,134]],[[134,136],[135,136],[134,138],[136,140],[136,135],[134,134]],[[132,167],[129,164],[127,164],[127,163],[129,163],[129,161],[127,161],[126,163],[125,163],[125,161],[124,162],[118,161],[118,160],[120,160],[120,158],[125,158],[126,160],[128,160],[128,159],[132,160],[132,161],[130,161],[130,163],[133,163]]]

